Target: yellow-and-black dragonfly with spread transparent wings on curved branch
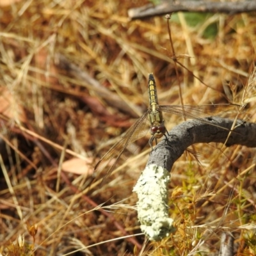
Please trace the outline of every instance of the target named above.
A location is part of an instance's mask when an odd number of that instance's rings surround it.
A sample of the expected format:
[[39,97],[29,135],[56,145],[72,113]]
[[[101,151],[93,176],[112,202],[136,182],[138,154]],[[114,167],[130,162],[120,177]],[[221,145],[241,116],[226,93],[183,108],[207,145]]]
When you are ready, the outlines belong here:
[[[105,180],[113,170],[115,166],[122,158],[125,150],[135,152],[137,146],[134,145],[134,141],[139,140],[145,136],[148,132],[148,123],[150,126],[150,133],[152,137],[149,140],[149,145],[152,148],[152,142],[163,136],[166,137],[166,127],[164,126],[163,112],[171,113],[174,115],[182,116],[184,118],[200,120],[204,123],[211,124],[205,121],[207,116],[218,115],[225,111],[234,111],[238,109],[239,105],[236,104],[210,104],[201,106],[191,105],[166,105],[161,106],[157,100],[156,81],[152,73],[148,74],[148,97],[149,108],[148,110],[125,132],[124,136],[111,147],[108,152],[100,159],[96,164],[94,173],[95,176],[99,173],[104,173]],[[212,125],[212,124],[211,124]],[[224,128],[223,128],[224,129]],[[124,157],[125,158],[125,157]],[[102,181],[103,181],[102,180]]]

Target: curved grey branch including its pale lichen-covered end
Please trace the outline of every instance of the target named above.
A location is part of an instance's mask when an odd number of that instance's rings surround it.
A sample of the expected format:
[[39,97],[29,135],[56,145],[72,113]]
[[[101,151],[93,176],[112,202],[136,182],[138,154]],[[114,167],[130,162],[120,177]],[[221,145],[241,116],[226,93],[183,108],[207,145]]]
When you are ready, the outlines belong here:
[[[133,191],[138,195],[137,209],[141,230],[150,240],[161,240],[175,232],[168,216],[168,182],[173,163],[195,143],[218,142],[256,147],[256,124],[220,117],[203,118],[207,124],[190,120],[177,125],[150,153],[147,166]],[[224,128],[224,129],[223,129]],[[228,138],[228,139],[227,139]]]

